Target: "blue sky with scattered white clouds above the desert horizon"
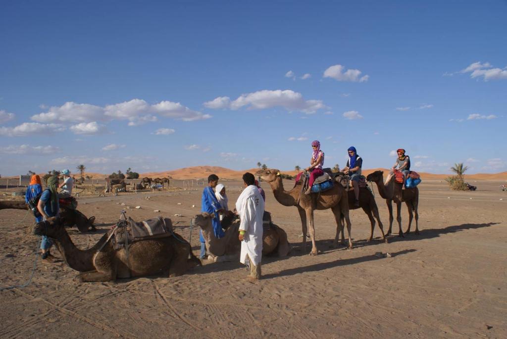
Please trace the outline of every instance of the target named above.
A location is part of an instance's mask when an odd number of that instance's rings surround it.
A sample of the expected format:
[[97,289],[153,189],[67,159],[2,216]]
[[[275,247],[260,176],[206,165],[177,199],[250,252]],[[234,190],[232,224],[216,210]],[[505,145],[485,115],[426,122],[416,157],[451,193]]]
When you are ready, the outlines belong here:
[[[507,170],[507,2],[4,2],[0,174]],[[305,75],[306,74],[306,75]]]

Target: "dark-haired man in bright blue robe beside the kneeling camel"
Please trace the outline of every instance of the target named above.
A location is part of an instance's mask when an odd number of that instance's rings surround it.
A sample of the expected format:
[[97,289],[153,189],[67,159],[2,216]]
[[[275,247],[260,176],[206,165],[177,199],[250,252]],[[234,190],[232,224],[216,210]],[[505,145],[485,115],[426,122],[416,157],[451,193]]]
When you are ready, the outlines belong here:
[[[208,176],[208,185],[204,187],[204,190],[202,191],[201,212],[215,214],[215,217],[211,220],[213,233],[216,238],[223,238],[225,237],[225,232],[220,223],[220,213],[223,212],[223,209],[219,201],[216,200],[215,192],[213,191],[218,182],[219,177],[217,175],[211,174]],[[202,236],[202,232],[200,232],[199,240],[201,241],[201,254],[199,258],[204,259],[206,257],[206,241]]]

